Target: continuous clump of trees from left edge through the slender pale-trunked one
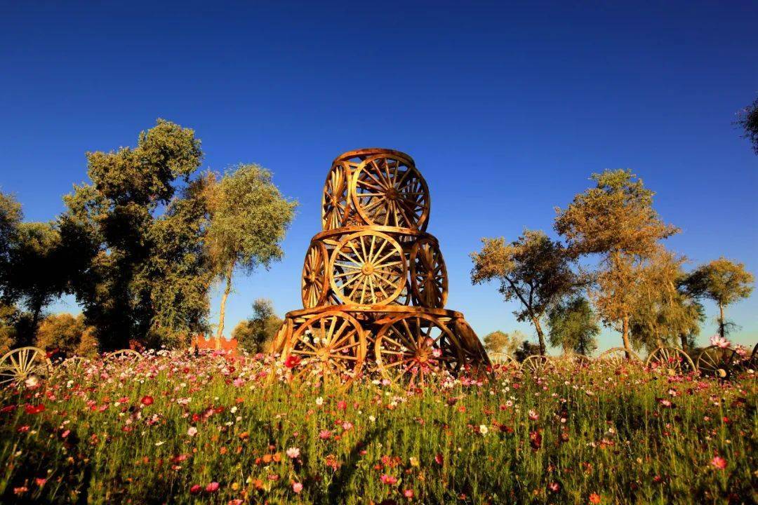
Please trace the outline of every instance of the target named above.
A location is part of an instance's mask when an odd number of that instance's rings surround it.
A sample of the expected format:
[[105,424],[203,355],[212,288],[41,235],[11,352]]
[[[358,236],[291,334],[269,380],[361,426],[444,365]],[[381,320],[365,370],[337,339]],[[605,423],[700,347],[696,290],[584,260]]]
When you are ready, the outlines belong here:
[[[86,157],[89,182],[74,185],[49,223],[23,222],[20,204],[0,193],[0,350],[189,346],[210,330],[219,281],[221,338],[233,274],[283,256],[296,202],[258,165],[200,170],[193,130],[164,120],[136,147]],[[73,295],[82,315],[45,319],[61,295]]]

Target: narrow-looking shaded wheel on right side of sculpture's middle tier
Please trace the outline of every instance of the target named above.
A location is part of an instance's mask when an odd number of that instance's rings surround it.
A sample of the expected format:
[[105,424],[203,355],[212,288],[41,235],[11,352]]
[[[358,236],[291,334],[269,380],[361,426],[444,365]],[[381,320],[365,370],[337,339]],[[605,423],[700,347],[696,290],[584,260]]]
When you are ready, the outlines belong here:
[[447,301],[447,269],[442,252],[431,238],[421,238],[411,251],[411,287],[417,304],[441,308]]

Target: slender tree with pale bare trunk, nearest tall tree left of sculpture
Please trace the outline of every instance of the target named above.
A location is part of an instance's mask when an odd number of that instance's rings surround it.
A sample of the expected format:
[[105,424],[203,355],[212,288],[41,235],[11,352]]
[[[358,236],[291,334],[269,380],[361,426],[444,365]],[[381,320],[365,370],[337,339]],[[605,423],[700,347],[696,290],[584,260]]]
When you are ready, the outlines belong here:
[[271,181],[271,172],[255,164],[240,164],[209,184],[208,202],[211,221],[205,243],[213,272],[224,282],[216,332],[216,346],[221,348],[233,273],[268,268],[283,257],[280,242],[297,203],[284,198]]

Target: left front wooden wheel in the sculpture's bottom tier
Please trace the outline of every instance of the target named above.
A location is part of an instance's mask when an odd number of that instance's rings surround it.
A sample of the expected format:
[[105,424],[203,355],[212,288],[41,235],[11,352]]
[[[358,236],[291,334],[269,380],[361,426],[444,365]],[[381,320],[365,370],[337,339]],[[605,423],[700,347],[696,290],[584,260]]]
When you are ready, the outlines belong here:
[[358,321],[344,312],[324,312],[300,326],[283,353],[292,379],[308,376],[352,379],[363,366],[366,341]]

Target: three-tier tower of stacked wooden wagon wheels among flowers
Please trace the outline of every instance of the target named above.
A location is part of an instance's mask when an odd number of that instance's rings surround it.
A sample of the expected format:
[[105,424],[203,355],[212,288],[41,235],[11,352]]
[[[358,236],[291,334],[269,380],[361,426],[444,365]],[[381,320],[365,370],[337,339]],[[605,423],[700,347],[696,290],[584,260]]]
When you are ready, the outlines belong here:
[[271,345],[277,376],[418,385],[490,364],[463,315],[445,308],[447,270],[429,215],[427,182],[408,154],[368,148],[334,160],[322,231],[303,262],[304,308],[287,313]]

